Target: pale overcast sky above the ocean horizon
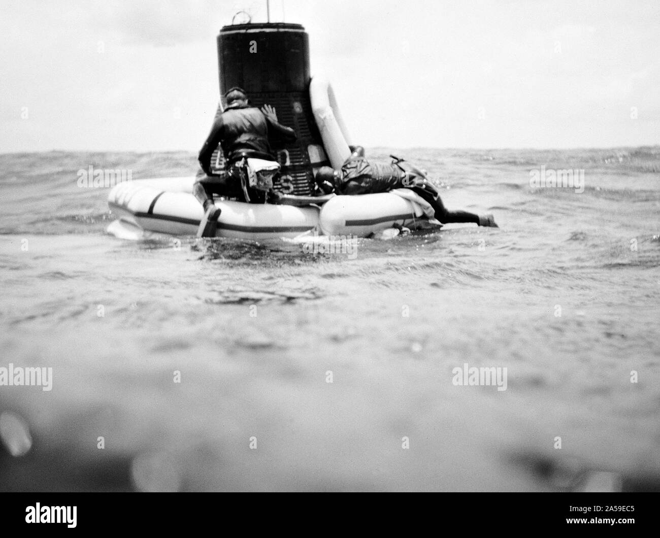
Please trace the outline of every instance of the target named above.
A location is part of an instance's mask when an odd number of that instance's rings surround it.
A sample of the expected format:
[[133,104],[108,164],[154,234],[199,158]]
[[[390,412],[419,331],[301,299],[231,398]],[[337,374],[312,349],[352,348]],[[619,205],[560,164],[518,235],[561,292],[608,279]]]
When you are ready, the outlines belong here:
[[[265,4],[0,0],[0,152],[197,151],[218,30]],[[362,145],[660,143],[660,1],[284,0],[284,17]]]

